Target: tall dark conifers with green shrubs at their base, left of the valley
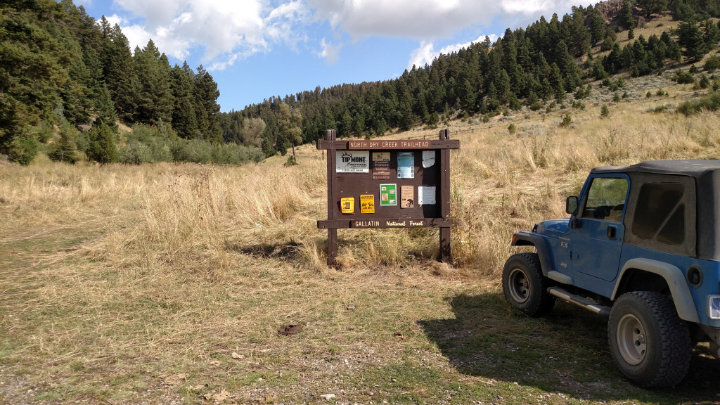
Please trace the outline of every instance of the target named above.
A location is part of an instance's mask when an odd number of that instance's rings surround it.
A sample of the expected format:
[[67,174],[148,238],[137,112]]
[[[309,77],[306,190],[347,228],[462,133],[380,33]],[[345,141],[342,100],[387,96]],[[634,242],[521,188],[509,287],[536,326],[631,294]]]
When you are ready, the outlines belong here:
[[[118,25],[71,0],[9,0],[0,7],[0,153],[21,163],[263,159],[225,145],[220,92],[187,63],[170,66],[152,40],[130,50]],[[117,122],[135,130],[121,134]]]

